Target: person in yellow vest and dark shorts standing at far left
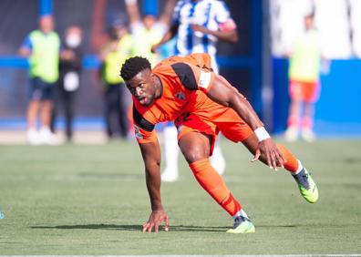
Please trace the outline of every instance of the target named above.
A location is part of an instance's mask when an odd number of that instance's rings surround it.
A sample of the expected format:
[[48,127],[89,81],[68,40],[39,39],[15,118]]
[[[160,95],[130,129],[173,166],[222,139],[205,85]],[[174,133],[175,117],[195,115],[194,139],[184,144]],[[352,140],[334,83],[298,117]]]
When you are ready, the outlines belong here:
[[[54,31],[52,15],[42,15],[39,29],[28,36],[20,46],[19,55],[28,57],[31,78],[30,100],[27,106],[26,139],[30,145],[58,143],[50,131],[50,118],[53,108],[53,91],[58,79],[60,40]],[[37,119],[41,128],[37,130]]]

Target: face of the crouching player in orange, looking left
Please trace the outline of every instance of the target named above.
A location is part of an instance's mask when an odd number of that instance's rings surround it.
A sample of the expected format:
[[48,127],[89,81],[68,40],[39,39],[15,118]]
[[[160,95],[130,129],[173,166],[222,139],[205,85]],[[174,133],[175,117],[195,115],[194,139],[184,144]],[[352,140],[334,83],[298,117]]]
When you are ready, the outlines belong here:
[[156,97],[154,77],[150,69],[140,71],[126,82],[130,93],[137,98],[142,106],[149,106]]

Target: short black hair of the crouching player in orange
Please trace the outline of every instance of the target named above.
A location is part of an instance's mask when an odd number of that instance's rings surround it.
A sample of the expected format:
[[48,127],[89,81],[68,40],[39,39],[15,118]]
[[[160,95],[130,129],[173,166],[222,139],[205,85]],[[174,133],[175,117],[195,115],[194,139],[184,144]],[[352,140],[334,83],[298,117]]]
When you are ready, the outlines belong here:
[[150,61],[147,58],[130,57],[121,67],[120,76],[123,77],[125,81],[127,81],[136,76],[140,71],[147,68],[151,68]]

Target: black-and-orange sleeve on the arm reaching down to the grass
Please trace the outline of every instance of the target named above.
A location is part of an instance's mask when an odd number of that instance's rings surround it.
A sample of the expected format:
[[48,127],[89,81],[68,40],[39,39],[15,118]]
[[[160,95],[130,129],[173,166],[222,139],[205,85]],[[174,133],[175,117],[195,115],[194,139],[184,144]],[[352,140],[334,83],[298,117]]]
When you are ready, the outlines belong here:
[[133,105],[133,120],[135,138],[139,144],[157,141],[157,133],[154,130],[155,125],[144,118],[135,105]]

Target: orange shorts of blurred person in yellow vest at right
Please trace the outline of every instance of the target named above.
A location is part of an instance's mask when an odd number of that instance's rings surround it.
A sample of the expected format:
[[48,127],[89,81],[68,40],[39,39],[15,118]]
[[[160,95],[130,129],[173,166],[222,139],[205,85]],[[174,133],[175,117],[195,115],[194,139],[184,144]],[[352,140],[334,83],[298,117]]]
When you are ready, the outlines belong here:
[[293,100],[314,103],[319,97],[319,83],[290,81],[290,97]]

